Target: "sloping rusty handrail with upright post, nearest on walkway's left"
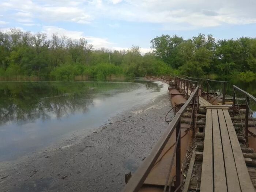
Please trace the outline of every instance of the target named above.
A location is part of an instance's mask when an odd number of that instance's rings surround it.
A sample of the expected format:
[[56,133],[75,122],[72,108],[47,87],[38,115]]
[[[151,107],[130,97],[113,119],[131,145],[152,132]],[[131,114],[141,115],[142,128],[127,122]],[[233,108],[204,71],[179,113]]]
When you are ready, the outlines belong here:
[[[180,130],[180,119],[182,114],[185,112],[189,104],[191,103],[192,99],[193,103],[195,103],[197,95],[198,95],[198,89],[199,86],[196,87],[196,89],[193,91],[193,93],[188,98],[187,102],[184,103],[184,105],[178,110],[176,115],[173,117],[173,120],[170,122],[169,126],[167,127],[165,133],[161,136],[161,138],[158,140],[158,142],[153,147],[150,155],[148,155],[142,164],[139,166],[135,174],[131,177],[131,179],[128,181],[128,183],[125,185],[123,192],[135,192],[139,191],[139,189],[142,187],[143,182],[146,180],[148,174],[150,173],[150,170],[153,168],[155,162],[157,161],[159,155],[162,153],[163,148],[165,147],[166,143],[170,139],[170,136],[176,129],[176,133]],[[198,102],[198,100],[197,100]],[[193,112],[192,112],[193,113]],[[194,113],[193,113],[194,114]],[[194,116],[194,115],[193,115]],[[193,127],[195,127],[195,124],[193,124]],[[177,138],[176,134],[176,144],[180,144],[181,137],[179,136]],[[177,161],[178,159],[178,161]],[[180,167],[180,165],[177,165],[177,163],[180,163],[180,146],[177,147],[176,151],[176,169]],[[180,178],[180,170],[176,170],[176,178]],[[176,187],[180,185],[178,182],[179,179],[176,181]]]

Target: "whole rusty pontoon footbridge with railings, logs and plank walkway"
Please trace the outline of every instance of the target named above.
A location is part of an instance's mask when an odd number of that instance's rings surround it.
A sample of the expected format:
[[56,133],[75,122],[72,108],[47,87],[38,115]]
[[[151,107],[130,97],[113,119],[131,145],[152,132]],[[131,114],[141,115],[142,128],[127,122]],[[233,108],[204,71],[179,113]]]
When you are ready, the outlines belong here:
[[[227,101],[224,81],[158,80],[170,84],[176,114],[123,191],[255,191],[256,126],[249,103],[256,98],[233,86],[233,99]],[[222,91],[212,90],[209,81],[221,83]],[[245,104],[237,102],[237,91]]]

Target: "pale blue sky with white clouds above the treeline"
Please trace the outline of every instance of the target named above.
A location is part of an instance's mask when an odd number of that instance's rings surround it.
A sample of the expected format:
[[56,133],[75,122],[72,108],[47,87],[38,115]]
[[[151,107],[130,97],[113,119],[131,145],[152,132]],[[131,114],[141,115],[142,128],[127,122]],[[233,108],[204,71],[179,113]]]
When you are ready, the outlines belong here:
[[0,0],[0,30],[85,37],[95,49],[141,47],[162,34],[256,37],[256,0]]

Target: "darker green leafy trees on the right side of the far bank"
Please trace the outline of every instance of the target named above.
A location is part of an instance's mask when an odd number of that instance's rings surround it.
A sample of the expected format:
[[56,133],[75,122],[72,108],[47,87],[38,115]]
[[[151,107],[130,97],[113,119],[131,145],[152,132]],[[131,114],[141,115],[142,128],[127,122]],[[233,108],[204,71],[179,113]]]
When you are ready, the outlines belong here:
[[151,43],[154,53],[180,74],[256,77],[255,38],[216,41],[212,35],[199,34],[184,40],[177,35],[162,35]]

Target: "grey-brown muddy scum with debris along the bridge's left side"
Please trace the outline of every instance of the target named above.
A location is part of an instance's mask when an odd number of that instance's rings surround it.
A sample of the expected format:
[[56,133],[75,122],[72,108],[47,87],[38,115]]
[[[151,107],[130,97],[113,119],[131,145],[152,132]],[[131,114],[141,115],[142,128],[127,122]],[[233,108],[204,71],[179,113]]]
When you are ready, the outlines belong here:
[[121,191],[124,174],[135,172],[165,131],[170,105],[166,90],[93,132],[75,132],[45,150],[1,162],[1,191]]

